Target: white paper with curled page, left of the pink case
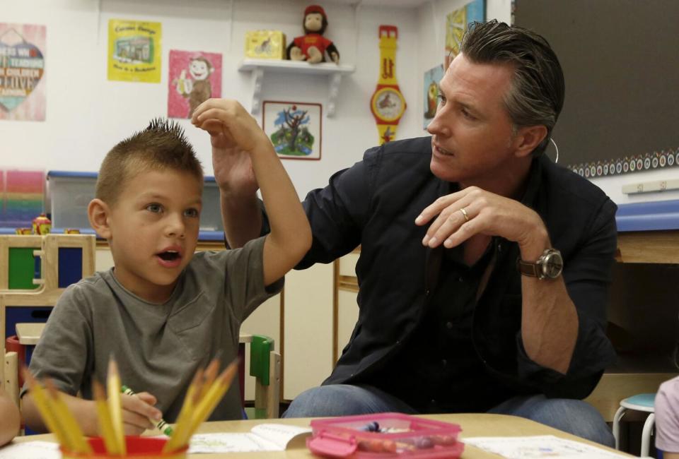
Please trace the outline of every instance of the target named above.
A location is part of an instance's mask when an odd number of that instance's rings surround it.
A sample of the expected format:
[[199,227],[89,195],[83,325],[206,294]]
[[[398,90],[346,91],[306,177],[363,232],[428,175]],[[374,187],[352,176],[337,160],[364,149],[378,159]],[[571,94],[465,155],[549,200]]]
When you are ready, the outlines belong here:
[[[243,434],[196,434],[191,437],[189,453],[249,453],[285,451],[296,436],[309,434],[308,427],[286,424],[259,424]],[[0,458],[2,459],[2,458]]]

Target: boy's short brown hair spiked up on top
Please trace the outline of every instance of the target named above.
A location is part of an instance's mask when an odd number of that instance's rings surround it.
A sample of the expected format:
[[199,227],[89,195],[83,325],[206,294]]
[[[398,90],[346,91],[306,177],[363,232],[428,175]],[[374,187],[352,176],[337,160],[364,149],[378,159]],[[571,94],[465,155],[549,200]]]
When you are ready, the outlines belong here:
[[120,141],[107,153],[99,169],[95,196],[113,205],[134,175],[163,169],[186,172],[202,184],[203,168],[182,126],[154,118],[146,129]]

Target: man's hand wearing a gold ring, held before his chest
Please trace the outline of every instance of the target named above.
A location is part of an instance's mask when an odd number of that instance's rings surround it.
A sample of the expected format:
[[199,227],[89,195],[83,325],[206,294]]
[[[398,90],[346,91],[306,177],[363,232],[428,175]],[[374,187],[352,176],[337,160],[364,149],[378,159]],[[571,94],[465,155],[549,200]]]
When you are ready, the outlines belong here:
[[[534,210],[476,186],[441,196],[422,210],[415,224],[425,225],[434,217],[422,239],[422,244],[432,248],[443,243],[450,249],[475,234],[484,234],[517,242],[523,254],[526,248],[544,246],[547,239],[547,229]],[[544,247],[536,250],[535,258]]]

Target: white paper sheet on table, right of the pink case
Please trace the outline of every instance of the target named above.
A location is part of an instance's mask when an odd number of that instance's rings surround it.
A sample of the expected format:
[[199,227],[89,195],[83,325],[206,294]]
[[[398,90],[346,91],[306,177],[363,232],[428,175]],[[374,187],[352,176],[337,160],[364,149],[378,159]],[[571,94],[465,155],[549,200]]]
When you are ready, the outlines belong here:
[[579,441],[541,436],[477,436],[462,439],[477,448],[508,459],[564,458],[564,459],[624,459],[629,456],[613,453]]

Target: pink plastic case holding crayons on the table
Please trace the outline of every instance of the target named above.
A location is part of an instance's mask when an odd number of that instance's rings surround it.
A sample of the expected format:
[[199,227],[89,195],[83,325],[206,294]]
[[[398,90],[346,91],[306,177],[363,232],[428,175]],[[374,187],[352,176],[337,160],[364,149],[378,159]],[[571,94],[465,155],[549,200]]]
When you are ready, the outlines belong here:
[[326,458],[459,458],[458,424],[400,413],[311,421],[309,450]]

